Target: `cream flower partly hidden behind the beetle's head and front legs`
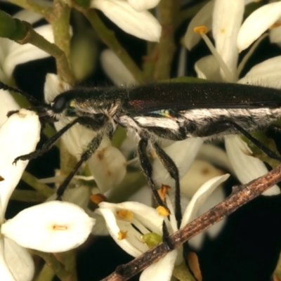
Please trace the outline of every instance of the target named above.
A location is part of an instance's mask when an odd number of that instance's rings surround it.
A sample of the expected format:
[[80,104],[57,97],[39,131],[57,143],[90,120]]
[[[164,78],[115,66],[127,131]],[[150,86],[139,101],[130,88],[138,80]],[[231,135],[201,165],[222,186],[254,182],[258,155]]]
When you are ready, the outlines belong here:
[[[69,89],[70,85],[60,81],[57,75],[47,74],[44,86],[46,103],[51,103],[58,93]],[[59,122],[55,122],[55,129],[60,131],[60,129],[73,119],[74,118],[68,117],[60,119]],[[75,124],[63,134],[62,139],[67,150],[79,160],[87,145],[89,145],[95,137],[95,131],[87,129],[80,124]],[[126,174],[125,157],[117,148],[112,147],[106,137],[103,138],[98,150],[96,150],[88,160],[88,164],[91,174],[101,192],[105,192],[112,188],[112,186],[119,184]]]

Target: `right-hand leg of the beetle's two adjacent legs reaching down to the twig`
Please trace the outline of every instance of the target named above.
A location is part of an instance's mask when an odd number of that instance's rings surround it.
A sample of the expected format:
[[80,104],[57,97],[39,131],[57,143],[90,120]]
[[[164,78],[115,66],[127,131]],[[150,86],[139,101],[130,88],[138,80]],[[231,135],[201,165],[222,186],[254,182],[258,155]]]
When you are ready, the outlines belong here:
[[176,192],[175,192],[175,216],[176,221],[178,223],[178,228],[181,226],[181,190],[180,190],[180,178],[178,174],[178,167],[174,163],[173,159],[169,157],[169,155],[164,152],[164,150],[158,145],[158,143],[154,143],[153,147],[155,148],[155,152],[157,153],[157,156],[166,169],[166,171],[169,172],[170,176],[174,178],[176,182]]

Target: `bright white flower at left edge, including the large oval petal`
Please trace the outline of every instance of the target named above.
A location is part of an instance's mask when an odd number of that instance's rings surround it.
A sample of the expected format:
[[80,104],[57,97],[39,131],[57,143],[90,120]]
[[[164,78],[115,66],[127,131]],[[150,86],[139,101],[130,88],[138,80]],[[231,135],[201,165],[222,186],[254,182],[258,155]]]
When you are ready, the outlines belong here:
[[82,209],[67,202],[40,204],[5,221],[9,197],[28,163],[19,160],[15,165],[13,160],[35,150],[39,133],[39,117],[29,110],[13,114],[0,128],[0,270],[5,281],[32,280],[34,264],[23,247],[66,251],[83,243],[94,224]]

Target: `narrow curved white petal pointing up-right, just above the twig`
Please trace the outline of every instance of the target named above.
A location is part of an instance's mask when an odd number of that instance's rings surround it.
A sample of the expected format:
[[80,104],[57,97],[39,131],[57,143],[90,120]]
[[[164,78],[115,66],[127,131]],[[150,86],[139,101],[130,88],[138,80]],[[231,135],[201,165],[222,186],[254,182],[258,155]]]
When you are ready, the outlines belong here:
[[224,181],[228,179],[230,175],[225,174],[223,176],[216,176],[215,178],[211,178],[207,183],[201,186],[192,197],[190,204],[185,209],[185,213],[183,214],[183,221],[181,222],[181,228],[186,226],[193,218],[195,218],[195,214],[197,210],[204,204],[207,198],[211,195],[211,193]]

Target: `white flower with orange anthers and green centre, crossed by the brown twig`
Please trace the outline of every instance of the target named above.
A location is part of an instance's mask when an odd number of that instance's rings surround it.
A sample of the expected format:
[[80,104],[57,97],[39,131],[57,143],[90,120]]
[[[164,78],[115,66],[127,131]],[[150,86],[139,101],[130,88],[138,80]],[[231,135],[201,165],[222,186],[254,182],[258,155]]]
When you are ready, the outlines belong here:
[[[207,197],[217,188],[223,181],[226,181],[229,175],[217,176],[204,183],[192,197],[190,204],[183,214],[181,228],[187,225],[196,217],[197,210],[204,204]],[[168,207],[171,211],[170,221],[166,221],[170,233],[177,230],[176,218],[171,207],[169,197],[166,197]],[[148,207],[138,202],[124,202],[112,204],[102,202],[99,204],[97,214],[103,215],[107,228],[112,238],[119,244],[124,251],[131,256],[139,256],[150,247],[143,242],[143,235],[154,233],[155,237],[160,237],[161,242],[163,216],[159,216],[157,211],[152,207]],[[175,249],[152,266],[146,268],[141,274],[140,280],[170,280],[175,264],[178,265],[183,261],[181,249]]]

